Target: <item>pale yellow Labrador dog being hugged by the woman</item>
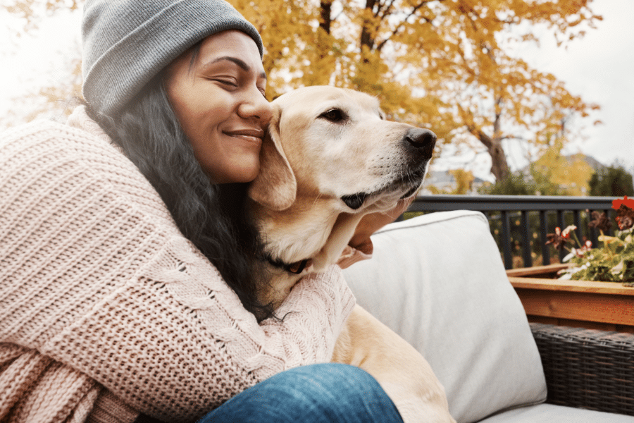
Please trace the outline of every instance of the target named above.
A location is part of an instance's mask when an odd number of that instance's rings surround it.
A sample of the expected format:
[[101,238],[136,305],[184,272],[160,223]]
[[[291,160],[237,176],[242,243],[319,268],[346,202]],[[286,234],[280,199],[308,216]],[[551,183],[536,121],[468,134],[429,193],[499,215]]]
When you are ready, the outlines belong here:
[[[304,87],[272,106],[260,173],[248,193],[271,270],[260,299],[277,307],[300,278],[337,262],[363,216],[416,193],[436,137],[385,120],[375,97],[354,90]],[[455,422],[428,362],[359,305],[332,362],[374,376],[406,423]]]

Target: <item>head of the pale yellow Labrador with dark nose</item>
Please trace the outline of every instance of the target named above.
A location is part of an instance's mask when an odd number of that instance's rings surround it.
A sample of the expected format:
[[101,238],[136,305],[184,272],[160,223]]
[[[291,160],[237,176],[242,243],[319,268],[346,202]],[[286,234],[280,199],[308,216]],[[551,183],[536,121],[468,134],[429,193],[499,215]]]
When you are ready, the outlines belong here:
[[333,212],[387,210],[421,186],[436,136],[385,121],[378,100],[342,88],[305,87],[273,102],[251,199],[272,210],[298,197]]

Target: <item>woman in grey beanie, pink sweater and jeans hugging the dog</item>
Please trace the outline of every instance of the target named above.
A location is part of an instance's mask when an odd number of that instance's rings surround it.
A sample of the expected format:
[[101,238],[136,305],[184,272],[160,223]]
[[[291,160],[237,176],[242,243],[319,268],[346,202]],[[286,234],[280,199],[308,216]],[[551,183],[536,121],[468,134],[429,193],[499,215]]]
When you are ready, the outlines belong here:
[[336,266],[283,319],[257,301],[255,28],[223,0],[89,0],[82,35],[87,104],[0,141],[0,420],[401,421],[316,364],[354,305]]

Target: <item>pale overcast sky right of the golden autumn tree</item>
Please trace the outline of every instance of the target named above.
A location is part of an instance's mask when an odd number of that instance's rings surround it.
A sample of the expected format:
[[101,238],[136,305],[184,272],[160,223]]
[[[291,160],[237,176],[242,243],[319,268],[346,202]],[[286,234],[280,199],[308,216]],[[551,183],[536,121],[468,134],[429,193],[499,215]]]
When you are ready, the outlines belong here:
[[[580,128],[583,140],[575,140],[564,149],[566,154],[581,152],[607,166],[619,160],[630,173],[634,171],[634,1],[595,0],[592,10],[603,20],[585,37],[557,47],[552,35],[543,27],[533,33],[540,45],[526,44],[518,54],[531,66],[552,73],[566,84],[571,94],[585,102],[597,103],[599,111],[588,118],[576,118],[571,125]],[[592,125],[594,121],[600,125]],[[512,170],[528,164],[519,142],[504,145]],[[433,169],[466,167],[475,176],[493,180],[487,154],[454,156],[452,151],[435,161]]]

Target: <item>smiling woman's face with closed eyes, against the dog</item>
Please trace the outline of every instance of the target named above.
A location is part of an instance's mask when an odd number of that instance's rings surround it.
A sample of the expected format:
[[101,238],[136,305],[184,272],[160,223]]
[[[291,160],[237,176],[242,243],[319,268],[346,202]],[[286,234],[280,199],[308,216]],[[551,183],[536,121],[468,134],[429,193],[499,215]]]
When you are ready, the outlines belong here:
[[194,155],[213,183],[250,182],[271,119],[266,74],[256,43],[237,30],[218,32],[168,68],[166,89]]

